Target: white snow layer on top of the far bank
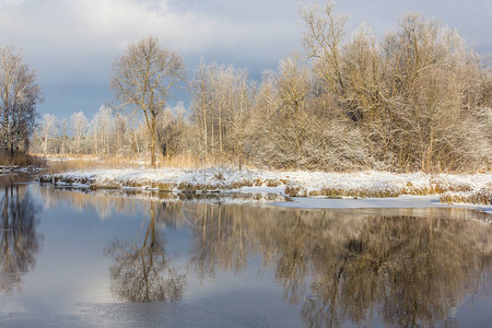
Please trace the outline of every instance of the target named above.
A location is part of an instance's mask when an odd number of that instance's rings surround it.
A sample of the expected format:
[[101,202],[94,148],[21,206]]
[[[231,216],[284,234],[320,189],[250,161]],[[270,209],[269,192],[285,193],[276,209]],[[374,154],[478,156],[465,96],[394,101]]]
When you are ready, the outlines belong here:
[[[72,171],[56,175],[62,178],[87,178],[116,181],[190,183],[200,185],[232,186],[234,183],[261,180],[288,180],[291,185],[307,191],[330,187],[342,190],[365,188],[370,190],[401,189],[411,184],[415,188],[425,188],[440,183],[444,186],[467,186],[471,190],[492,188],[492,174],[429,175],[424,173],[395,174],[388,172],[326,173],[326,172],[272,172],[260,169],[210,168],[112,168]],[[273,187],[261,186],[270,192]],[[250,189],[248,189],[250,190]],[[260,191],[258,189],[251,191]]]

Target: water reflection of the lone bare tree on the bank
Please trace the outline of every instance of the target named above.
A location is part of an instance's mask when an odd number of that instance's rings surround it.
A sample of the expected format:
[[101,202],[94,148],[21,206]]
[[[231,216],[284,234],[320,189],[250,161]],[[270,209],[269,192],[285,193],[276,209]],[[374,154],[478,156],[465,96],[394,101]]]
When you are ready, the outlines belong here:
[[139,232],[129,243],[115,239],[106,249],[114,259],[109,268],[112,292],[124,301],[175,301],[183,296],[185,276],[169,266],[164,234],[155,226],[156,212],[159,216],[161,210],[156,202],[150,202],[151,220],[144,233]]

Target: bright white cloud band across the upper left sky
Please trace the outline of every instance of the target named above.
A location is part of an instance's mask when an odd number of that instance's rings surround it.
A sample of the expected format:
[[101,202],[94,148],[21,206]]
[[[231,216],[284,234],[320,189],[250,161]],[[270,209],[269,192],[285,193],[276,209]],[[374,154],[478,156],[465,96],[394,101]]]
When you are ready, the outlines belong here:
[[[5,3],[10,2],[13,1]],[[26,48],[43,45],[44,51],[54,48],[54,51],[85,54],[121,50],[129,42],[153,35],[178,51],[195,54],[221,45],[241,46],[244,40],[251,43],[268,35],[277,43],[279,33],[297,27],[295,22],[278,24],[276,21],[236,23],[234,17],[177,12],[167,1],[50,0],[44,5],[24,1],[3,10],[0,37]]]

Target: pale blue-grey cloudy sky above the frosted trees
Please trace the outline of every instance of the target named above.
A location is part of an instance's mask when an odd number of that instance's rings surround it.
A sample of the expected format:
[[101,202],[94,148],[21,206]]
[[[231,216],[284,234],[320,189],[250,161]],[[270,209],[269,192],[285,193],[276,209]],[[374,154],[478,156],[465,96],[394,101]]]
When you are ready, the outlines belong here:
[[[306,1],[304,1],[305,3]],[[259,79],[279,59],[302,54],[297,0],[0,0],[0,45],[21,48],[36,70],[40,114],[91,116],[112,102],[112,62],[126,45],[156,36],[191,72],[207,62],[234,63]],[[383,36],[402,14],[421,12],[456,27],[481,52],[492,52],[490,0],[339,0],[348,35],[362,23]],[[184,92],[173,102],[188,99]]]

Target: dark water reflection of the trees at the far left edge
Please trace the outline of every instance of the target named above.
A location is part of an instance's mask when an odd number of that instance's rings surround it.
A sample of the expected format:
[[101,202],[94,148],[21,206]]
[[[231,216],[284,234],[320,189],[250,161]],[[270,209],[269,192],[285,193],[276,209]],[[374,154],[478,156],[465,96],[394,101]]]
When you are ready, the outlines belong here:
[[39,208],[26,186],[4,185],[0,189],[0,291],[19,291],[22,273],[33,270],[43,239],[36,233]]

